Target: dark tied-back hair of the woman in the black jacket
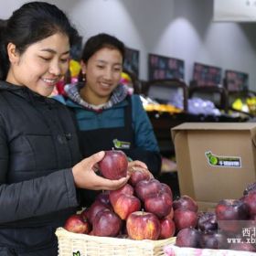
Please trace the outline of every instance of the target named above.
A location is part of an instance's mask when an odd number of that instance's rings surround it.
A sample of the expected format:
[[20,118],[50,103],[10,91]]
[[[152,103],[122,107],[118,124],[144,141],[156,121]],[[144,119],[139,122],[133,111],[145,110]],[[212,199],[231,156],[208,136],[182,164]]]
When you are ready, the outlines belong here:
[[56,33],[69,37],[70,47],[79,37],[69,18],[56,5],[30,2],[22,5],[5,22],[0,23],[0,80],[5,80],[10,62],[7,44],[12,42],[20,54],[33,43]]

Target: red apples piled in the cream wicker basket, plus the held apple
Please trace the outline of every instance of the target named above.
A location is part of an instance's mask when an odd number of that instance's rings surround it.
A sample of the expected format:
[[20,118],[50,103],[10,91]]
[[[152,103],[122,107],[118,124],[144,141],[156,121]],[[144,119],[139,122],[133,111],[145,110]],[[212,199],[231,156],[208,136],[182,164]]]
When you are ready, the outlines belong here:
[[[119,150],[106,151],[99,163],[109,179],[127,176],[128,161]],[[176,232],[170,187],[144,171],[133,171],[128,183],[103,191],[89,208],[66,220],[64,228],[76,233],[133,240],[162,240]]]

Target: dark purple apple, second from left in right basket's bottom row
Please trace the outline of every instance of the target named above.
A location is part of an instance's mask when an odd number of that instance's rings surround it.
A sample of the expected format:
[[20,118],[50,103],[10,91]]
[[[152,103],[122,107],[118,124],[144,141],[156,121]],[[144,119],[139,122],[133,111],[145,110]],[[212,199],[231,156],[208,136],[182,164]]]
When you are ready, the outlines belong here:
[[207,249],[228,249],[227,236],[217,230],[209,230],[201,233],[200,247]]

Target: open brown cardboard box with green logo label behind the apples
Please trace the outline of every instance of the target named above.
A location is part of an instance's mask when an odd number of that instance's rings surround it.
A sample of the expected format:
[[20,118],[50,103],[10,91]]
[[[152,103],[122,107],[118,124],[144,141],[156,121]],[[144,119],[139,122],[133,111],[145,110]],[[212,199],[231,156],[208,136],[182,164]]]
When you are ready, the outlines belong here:
[[181,195],[212,208],[256,181],[256,123],[182,123],[171,135]]

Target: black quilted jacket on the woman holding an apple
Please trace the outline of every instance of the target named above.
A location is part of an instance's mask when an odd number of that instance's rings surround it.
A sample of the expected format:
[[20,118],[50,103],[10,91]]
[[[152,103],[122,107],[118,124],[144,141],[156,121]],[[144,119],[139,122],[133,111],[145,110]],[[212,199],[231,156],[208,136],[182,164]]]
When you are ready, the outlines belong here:
[[55,239],[78,206],[71,167],[79,161],[65,106],[0,81],[0,247],[43,247]]

